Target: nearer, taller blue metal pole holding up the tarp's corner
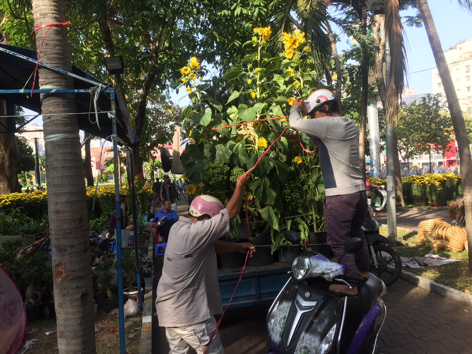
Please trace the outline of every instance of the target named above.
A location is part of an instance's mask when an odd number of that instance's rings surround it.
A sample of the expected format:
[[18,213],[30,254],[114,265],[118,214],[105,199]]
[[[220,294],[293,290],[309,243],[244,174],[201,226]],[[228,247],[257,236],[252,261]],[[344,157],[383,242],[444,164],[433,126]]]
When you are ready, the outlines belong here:
[[121,250],[121,208],[119,203],[119,184],[118,184],[118,146],[117,146],[117,126],[115,118],[115,94],[111,93],[111,110],[113,111],[113,117],[111,118],[112,135],[111,141],[113,142],[113,166],[114,166],[114,178],[115,178],[115,210],[117,220],[117,230],[115,232],[117,240],[117,258],[118,258],[118,311],[119,311],[119,346],[120,353],[125,354],[125,313],[123,311],[123,256]]

